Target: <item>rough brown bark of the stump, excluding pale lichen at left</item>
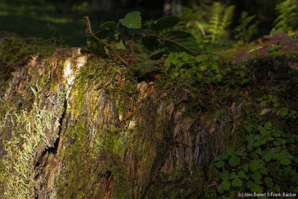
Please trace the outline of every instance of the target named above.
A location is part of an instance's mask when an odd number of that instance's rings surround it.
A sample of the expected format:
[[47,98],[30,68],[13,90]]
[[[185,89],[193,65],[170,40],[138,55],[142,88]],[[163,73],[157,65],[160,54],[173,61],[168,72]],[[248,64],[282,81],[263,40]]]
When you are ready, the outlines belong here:
[[[154,86],[145,82],[137,85],[135,96],[123,96],[123,91],[108,94],[108,87],[122,86],[119,74],[119,77],[108,77],[96,85],[92,81],[78,83],[76,71],[86,62],[87,57],[80,55],[77,48],[58,49],[49,59],[32,59],[27,66],[14,72],[11,87],[4,94],[3,100],[10,104],[7,111],[11,112],[1,124],[6,140],[11,139],[15,128],[25,128],[26,123],[22,126],[13,122],[13,113],[18,114],[18,110],[30,109],[36,103],[39,109],[53,113],[51,128],[44,128],[47,144],[41,141],[35,146],[36,154],[31,162],[34,173],[30,175],[34,175],[35,182],[30,182],[29,186],[34,190],[34,197],[109,199],[123,195],[123,198],[144,198],[160,172],[170,173],[185,165],[189,168],[204,165],[221,151],[228,118],[220,124],[206,124],[197,116],[183,117],[186,107],[177,110],[173,102],[162,100],[166,92],[158,98]],[[42,78],[47,82],[36,86],[36,81]],[[31,88],[37,90],[35,96]],[[121,100],[129,102],[123,112],[119,112]],[[130,107],[132,101],[134,106]],[[241,106],[231,111],[240,110]],[[95,139],[97,134],[101,134],[101,141]],[[210,135],[217,139],[210,140],[213,144],[204,149]],[[101,147],[100,142],[107,146]],[[74,144],[79,145],[77,149],[72,146]],[[87,153],[85,159],[77,157],[80,152],[76,150]],[[88,154],[89,150],[96,150],[91,153],[94,157]],[[1,150],[3,155],[4,150]],[[69,159],[74,163],[70,164]],[[68,172],[64,174],[67,177],[62,177],[64,172]],[[117,177],[120,179],[115,179],[117,175],[113,172],[121,173]],[[96,179],[82,178],[90,175]],[[69,176],[72,177],[68,179]],[[122,178],[126,183],[122,184]],[[59,187],[63,183],[77,190]],[[82,194],[80,188],[90,193]],[[113,189],[127,189],[128,193],[119,191],[118,196]]]

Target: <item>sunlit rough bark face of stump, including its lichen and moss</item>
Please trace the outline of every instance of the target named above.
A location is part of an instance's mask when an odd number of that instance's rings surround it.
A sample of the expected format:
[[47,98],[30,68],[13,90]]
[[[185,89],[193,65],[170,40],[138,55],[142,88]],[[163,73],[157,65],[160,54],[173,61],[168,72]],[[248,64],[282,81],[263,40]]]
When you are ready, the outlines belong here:
[[[57,49],[52,57],[33,58],[13,73],[1,94],[0,131],[3,140],[20,140],[6,144],[11,154],[0,143],[0,159],[6,157],[4,165],[11,167],[4,175],[2,197],[154,198],[173,191],[171,185],[182,178],[189,179],[184,182],[190,198],[206,196],[191,189],[212,183],[212,174],[206,179],[201,166],[235,134],[244,103],[230,101],[221,117],[186,114],[189,107],[169,100],[168,91],[129,82],[124,68],[100,76],[110,65],[81,55],[78,48]],[[182,100],[193,100],[188,91],[174,90]],[[22,139],[24,134],[28,139]],[[15,168],[23,156],[31,169],[20,168],[22,174]],[[14,158],[20,159],[15,165]],[[18,193],[22,184],[25,190]]]

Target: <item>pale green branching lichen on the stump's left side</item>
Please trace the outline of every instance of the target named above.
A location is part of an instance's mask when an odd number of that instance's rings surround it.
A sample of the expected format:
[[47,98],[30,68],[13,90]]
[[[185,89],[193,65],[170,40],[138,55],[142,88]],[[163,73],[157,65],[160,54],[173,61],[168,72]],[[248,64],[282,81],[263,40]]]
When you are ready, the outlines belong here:
[[[13,132],[13,139],[5,146],[6,155],[2,160],[6,179],[4,196],[7,199],[34,198],[36,151],[50,145],[45,129],[52,130],[55,115],[49,110],[39,109],[37,104],[30,112],[23,110],[15,115],[15,126],[24,126],[24,132]],[[22,135],[18,138],[15,133]]]

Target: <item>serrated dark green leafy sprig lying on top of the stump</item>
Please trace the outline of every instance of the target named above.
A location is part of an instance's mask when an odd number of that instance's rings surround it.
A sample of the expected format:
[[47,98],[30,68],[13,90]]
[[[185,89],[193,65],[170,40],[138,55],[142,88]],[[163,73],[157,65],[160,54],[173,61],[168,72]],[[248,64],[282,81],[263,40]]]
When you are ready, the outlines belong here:
[[[199,53],[195,37],[192,34],[170,30],[179,20],[180,17],[167,16],[155,21],[148,21],[142,28],[140,12],[133,11],[128,13],[125,18],[120,19],[117,25],[111,21],[102,24],[101,30],[95,33],[97,38],[91,36],[87,40],[87,47],[82,52],[109,55],[109,51],[112,50],[115,55],[116,51],[119,53],[125,51],[133,55],[132,58],[135,62],[143,63],[160,58],[166,51],[187,52],[192,55]],[[113,48],[111,45],[108,48],[106,43],[116,43],[116,49],[111,49]],[[119,56],[116,57],[119,58]],[[144,60],[145,57],[146,60]]]

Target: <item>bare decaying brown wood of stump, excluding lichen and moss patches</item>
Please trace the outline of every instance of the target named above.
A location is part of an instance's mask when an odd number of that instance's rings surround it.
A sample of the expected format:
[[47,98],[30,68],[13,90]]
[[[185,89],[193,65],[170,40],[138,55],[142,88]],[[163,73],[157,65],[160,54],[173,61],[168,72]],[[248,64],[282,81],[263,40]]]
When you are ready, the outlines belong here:
[[[77,48],[58,49],[57,53],[47,60],[32,57],[28,66],[13,74],[11,87],[7,87],[3,99],[10,104],[8,112],[19,107],[30,108],[31,105],[24,107],[22,104],[32,104],[35,101],[40,109],[47,109],[55,115],[52,120],[53,128],[45,132],[50,144],[43,148],[37,146],[33,164],[36,175],[35,198],[57,197],[57,193],[63,191],[53,182],[57,182],[57,179],[63,182],[65,178],[61,176],[68,165],[64,153],[70,153],[68,149],[74,144],[74,138],[67,135],[67,132],[74,131],[77,124],[84,128],[83,143],[89,147],[88,150],[96,145],[94,137],[103,133],[103,129],[115,128],[116,133],[123,132],[131,139],[130,145],[123,147],[119,156],[102,153],[94,160],[92,170],[86,171],[98,173],[95,183],[88,186],[91,186],[92,190],[104,190],[102,195],[97,195],[104,199],[113,198],[117,186],[117,179],[100,170],[108,157],[115,159],[115,164],[125,168],[133,196],[140,198],[146,195],[160,172],[169,174],[184,165],[191,168],[192,165],[205,165],[212,161],[223,149],[224,137],[232,134],[239,125],[237,114],[241,112],[243,104],[236,106],[233,103],[230,116],[222,118],[219,123],[216,122],[216,116],[210,119],[201,111],[200,114],[184,117],[187,107],[178,109],[173,102],[163,101],[157,95],[155,87],[145,82],[137,85],[136,100],[128,99],[127,111],[119,112],[117,104],[119,99],[122,99],[122,91],[115,92],[111,99],[104,89],[120,86],[114,81],[114,77],[103,79],[98,84],[86,81],[82,86],[82,108],[78,112],[75,101],[76,93],[81,88],[76,86],[77,71],[86,62],[87,57],[81,55]],[[34,97],[28,85],[35,84],[42,75],[48,75],[52,88],[39,91]],[[176,86],[173,86],[168,92],[175,88]],[[197,100],[189,90],[184,91],[192,100]],[[232,128],[228,128],[231,119],[234,123]],[[3,119],[0,130],[6,140],[11,138],[11,132],[15,129],[8,114]],[[165,134],[169,134],[169,137]],[[160,151],[156,144],[164,145],[164,149]],[[146,153],[145,150],[149,152]],[[0,147],[0,151],[1,158],[4,155],[3,147]],[[66,189],[68,184],[63,186],[65,187],[62,189]]]

